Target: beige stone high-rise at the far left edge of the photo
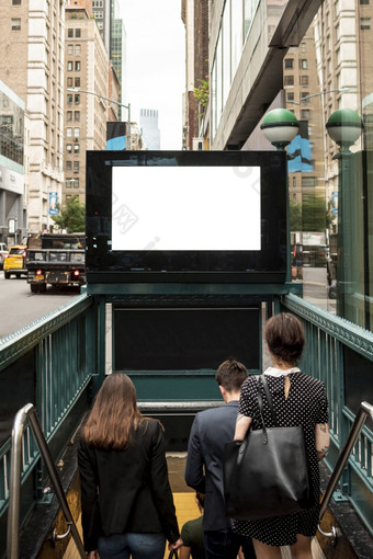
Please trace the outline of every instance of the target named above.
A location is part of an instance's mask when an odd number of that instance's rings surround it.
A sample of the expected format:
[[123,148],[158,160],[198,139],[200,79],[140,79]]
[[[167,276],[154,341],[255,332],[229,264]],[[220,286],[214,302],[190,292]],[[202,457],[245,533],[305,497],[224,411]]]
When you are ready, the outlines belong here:
[[27,227],[48,224],[48,199],[64,181],[65,2],[0,2],[0,79],[24,102]]

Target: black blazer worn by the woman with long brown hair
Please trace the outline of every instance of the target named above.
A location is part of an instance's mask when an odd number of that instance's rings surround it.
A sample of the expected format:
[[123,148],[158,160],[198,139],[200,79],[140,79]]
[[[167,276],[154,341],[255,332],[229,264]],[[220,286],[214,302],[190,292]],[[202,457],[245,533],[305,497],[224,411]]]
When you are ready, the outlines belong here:
[[82,438],[78,464],[87,551],[97,549],[99,535],[163,533],[171,543],[180,537],[158,421],[133,431],[126,450],[94,448]]

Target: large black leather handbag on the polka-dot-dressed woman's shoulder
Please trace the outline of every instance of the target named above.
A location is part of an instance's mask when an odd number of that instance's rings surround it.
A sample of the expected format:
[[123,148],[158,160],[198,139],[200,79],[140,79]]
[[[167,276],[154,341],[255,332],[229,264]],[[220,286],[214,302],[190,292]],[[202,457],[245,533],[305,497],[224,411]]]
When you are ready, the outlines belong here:
[[278,425],[271,392],[261,375],[258,403],[262,429],[225,446],[226,511],[229,517],[244,521],[292,514],[314,504],[303,427],[267,427],[261,386]]

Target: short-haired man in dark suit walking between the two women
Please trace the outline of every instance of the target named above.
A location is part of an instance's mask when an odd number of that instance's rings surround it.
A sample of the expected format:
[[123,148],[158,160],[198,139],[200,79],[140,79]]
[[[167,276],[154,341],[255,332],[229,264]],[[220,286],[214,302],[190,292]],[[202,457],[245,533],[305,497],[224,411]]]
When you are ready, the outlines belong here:
[[225,444],[234,438],[240,387],[246,377],[247,370],[241,363],[235,360],[222,363],[215,378],[226,404],[199,412],[189,437],[185,482],[205,493],[206,559],[236,559],[240,546],[225,511],[223,457]]

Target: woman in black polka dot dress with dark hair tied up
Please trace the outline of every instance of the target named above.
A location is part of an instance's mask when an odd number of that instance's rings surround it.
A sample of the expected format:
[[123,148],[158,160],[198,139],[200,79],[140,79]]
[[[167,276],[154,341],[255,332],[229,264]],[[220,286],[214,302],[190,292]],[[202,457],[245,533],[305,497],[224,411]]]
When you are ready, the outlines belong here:
[[[290,546],[292,557],[312,559],[310,540],[316,534],[319,511],[319,470],[329,446],[328,401],[324,384],[295,366],[304,347],[304,332],[298,319],[290,313],[272,317],[265,324],[265,341],[273,367],[265,372],[280,426],[303,425],[312,472],[315,504],[298,513],[258,521],[235,521],[234,531],[252,538],[257,559],[280,559],[280,546]],[[242,441],[249,427],[261,429],[256,377],[248,377],[241,388],[235,440]],[[263,396],[264,421],[273,426]]]

